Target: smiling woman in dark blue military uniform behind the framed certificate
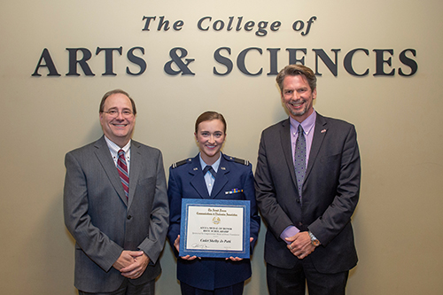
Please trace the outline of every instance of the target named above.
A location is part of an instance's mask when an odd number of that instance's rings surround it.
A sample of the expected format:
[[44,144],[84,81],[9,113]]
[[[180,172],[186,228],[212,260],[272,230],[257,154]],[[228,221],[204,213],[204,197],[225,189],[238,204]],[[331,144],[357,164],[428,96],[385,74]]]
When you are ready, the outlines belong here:
[[[182,198],[239,199],[251,202],[251,252],[260,229],[255,204],[252,165],[221,152],[226,138],[226,121],[221,113],[202,113],[195,124],[200,152],[169,168],[169,243],[178,256]],[[177,279],[186,295],[241,295],[251,277],[251,262],[237,257],[177,257]]]

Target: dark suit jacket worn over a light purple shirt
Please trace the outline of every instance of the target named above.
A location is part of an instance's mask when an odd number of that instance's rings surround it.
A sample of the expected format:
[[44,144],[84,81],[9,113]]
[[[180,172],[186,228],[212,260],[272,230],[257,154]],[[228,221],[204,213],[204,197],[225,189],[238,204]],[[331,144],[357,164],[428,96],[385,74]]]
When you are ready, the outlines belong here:
[[308,259],[321,273],[346,271],[357,263],[351,216],[360,194],[360,154],[353,125],[317,113],[315,134],[299,200],[291,155],[290,120],[261,134],[255,173],[257,204],[268,223],[265,260],[293,268],[299,259],[280,234],[290,225],[310,229],[322,245]]

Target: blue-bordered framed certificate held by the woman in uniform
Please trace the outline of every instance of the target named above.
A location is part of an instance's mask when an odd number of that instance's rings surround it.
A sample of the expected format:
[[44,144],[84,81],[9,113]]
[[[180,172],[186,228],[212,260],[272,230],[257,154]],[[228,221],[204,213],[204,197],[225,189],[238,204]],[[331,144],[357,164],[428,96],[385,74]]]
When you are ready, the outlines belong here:
[[250,201],[182,199],[180,256],[249,258]]

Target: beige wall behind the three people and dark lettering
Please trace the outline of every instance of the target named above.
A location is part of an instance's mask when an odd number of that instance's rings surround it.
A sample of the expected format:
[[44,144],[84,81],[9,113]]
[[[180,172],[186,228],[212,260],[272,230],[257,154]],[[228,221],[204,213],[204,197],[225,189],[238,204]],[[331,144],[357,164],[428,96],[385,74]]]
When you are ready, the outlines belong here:
[[[267,48],[281,48],[278,69],[288,62],[286,48],[307,48],[306,65],[315,66],[312,49],[338,53],[338,76],[323,65],[319,71],[315,109],[323,115],[353,122],[361,148],[361,201],[354,213],[360,262],[351,272],[348,294],[439,294],[443,255],[443,4],[417,1],[9,1],[0,4],[0,86],[2,125],[0,146],[0,285],[4,294],[74,294],[74,240],[62,214],[64,155],[101,135],[97,108],[109,89],[122,88],[136,99],[135,138],[163,151],[167,167],[195,155],[193,124],[208,109],[228,120],[224,151],[250,159],[255,167],[260,132],[287,117],[274,82],[268,76]],[[143,16],[183,19],[179,32],[142,32]],[[253,32],[198,31],[204,16],[228,21],[280,20],[282,27],[265,37]],[[291,29],[293,21],[317,19],[307,36]],[[157,24],[157,23],[156,23]],[[116,76],[105,72],[104,52],[97,47],[120,47],[114,54]],[[144,47],[148,64],[140,76],[125,74],[128,49]],[[66,48],[93,52],[94,77],[66,76]],[[195,76],[171,76],[163,66],[169,50],[183,47]],[[214,50],[229,47],[234,69],[214,61]],[[246,58],[238,71],[237,54],[248,47],[263,50]],[[32,77],[48,48],[60,77]],[[343,67],[346,52],[366,48],[369,57],[355,56],[355,77]],[[398,54],[416,50],[418,72],[411,77],[374,77],[373,49],[393,49],[392,68],[402,67]],[[226,55],[226,54],[225,54]],[[390,66],[385,66],[386,72]],[[263,262],[263,227],[253,256],[253,278],[245,294],[267,294]],[[162,256],[158,294],[178,293],[175,261],[169,245]]]

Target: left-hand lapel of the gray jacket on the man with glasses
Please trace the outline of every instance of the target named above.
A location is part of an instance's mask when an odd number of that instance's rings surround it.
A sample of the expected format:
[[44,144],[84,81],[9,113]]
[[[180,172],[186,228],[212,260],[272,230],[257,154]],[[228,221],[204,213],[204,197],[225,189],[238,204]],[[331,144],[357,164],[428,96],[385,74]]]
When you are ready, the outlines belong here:
[[94,146],[97,148],[97,150],[95,151],[96,156],[100,161],[103,169],[105,170],[105,174],[108,176],[109,181],[113,184],[113,187],[117,191],[121,200],[125,204],[128,204],[125,196],[125,190],[123,190],[123,186],[121,185],[120,176],[117,172],[117,167],[115,167],[113,158],[111,157],[111,152],[109,151],[108,145],[106,144],[105,136],[102,136],[100,139],[98,139]]

